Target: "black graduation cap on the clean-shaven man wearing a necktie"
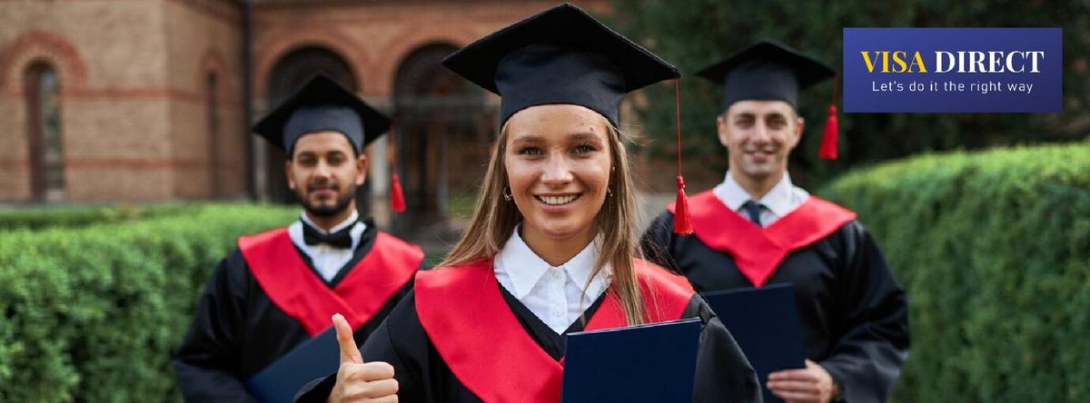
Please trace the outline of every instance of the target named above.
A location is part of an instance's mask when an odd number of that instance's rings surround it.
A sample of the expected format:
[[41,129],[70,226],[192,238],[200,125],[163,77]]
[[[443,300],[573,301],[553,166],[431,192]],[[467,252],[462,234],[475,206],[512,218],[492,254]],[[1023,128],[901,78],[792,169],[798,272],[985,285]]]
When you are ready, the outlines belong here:
[[782,100],[797,108],[799,89],[836,73],[825,63],[786,45],[762,40],[704,68],[697,75],[724,86],[724,109],[743,99]]

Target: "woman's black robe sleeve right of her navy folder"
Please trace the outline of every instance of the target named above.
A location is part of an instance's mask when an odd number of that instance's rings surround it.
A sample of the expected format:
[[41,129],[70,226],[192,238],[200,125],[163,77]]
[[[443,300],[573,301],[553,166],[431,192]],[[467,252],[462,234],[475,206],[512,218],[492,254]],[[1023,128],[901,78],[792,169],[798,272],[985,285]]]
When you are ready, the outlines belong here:
[[761,386],[734,337],[700,295],[693,295],[682,318],[704,322],[697,355],[693,402],[761,402]]

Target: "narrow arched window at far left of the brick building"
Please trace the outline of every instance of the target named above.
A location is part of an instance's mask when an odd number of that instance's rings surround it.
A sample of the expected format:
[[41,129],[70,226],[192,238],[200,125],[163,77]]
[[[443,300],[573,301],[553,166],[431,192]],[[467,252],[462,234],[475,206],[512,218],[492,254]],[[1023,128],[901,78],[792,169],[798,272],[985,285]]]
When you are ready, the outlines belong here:
[[36,200],[60,200],[64,198],[60,77],[51,65],[39,62],[26,70],[24,83],[32,196]]

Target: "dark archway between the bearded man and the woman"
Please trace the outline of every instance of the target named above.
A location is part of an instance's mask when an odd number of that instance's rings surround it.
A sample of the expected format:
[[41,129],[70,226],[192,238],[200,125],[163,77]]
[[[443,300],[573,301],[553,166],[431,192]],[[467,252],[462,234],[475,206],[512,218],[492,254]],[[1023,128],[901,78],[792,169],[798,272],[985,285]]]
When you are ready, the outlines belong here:
[[407,204],[395,220],[401,233],[446,232],[448,199],[473,193],[486,168],[495,119],[485,112],[482,89],[439,64],[455,50],[446,44],[417,48],[393,82],[396,169]]

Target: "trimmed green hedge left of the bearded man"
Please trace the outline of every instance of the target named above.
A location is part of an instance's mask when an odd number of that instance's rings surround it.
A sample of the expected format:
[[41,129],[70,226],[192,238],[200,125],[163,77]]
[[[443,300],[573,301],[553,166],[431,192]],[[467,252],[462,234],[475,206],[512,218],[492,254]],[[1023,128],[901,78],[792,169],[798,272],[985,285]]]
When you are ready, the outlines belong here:
[[179,401],[169,352],[240,234],[296,210],[191,215],[0,233],[0,401]]

